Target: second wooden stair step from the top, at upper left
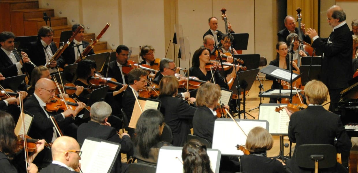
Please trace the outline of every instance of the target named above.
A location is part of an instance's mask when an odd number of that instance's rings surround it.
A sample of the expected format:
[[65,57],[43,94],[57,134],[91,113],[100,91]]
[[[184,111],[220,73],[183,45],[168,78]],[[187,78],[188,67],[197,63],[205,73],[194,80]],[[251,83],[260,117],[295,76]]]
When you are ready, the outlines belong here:
[[22,9],[13,10],[11,13],[11,32],[16,36],[25,36],[24,20],[33,18],[42,18],[43,13],[47,16],[54,16],[54,9]]

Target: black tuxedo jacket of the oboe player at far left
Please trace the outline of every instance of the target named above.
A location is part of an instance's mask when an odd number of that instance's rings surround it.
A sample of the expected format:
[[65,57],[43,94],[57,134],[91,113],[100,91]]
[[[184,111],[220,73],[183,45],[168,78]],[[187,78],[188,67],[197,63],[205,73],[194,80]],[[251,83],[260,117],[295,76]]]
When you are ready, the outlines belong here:
[[[13,51],[13,53],[15,55],[16,60],[19,62],[21,60],[20,55],[16,51]],[[25,63],[21,70],[23,73],[28,72],[31,74],[33,68],[34,67],[32,65]],[[5,78],[18,75],[18,69],[16,68],[16,65],[13,64],[13,62],[10,60],[9,56],[6,55],[3,49],[0,49],[0,72],[4,75]]]

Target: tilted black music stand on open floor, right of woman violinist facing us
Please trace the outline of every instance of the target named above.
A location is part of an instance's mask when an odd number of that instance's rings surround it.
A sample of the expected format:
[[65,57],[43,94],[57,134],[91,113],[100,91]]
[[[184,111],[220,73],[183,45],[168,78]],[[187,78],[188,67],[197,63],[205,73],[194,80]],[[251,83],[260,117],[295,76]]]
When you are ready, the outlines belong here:
[[[244,118],[247,119],[246,114],[250,115],[249,113],[246,112],[245,110],[245,105],[246,105],[246,96],[245,96],[245,92],[246,90],[250,90],[253,84],[253,81],[255,81],[255,78],[258,74],[258,71],[260,71],[260,69],[252,69],[252,70],[246,70],[246,71],[240,71],[239,73],[237,73],[237,79],[234,80],[234,83],[232,84],[232,86],[237,86],[238,88],[232,89],[234,94],[238,94],[240,95],[240,89],[243,89],[243,110],[240,110],[240,104],[238,105],[238,109],[239,109],[239,113],[237,114],[237,116],[239,116],[240,118],[240,114],[244,114]],[[255,117],[253,117],[252,115],[250,115],[250,117],[252,117],[253,119],[255,119]]]

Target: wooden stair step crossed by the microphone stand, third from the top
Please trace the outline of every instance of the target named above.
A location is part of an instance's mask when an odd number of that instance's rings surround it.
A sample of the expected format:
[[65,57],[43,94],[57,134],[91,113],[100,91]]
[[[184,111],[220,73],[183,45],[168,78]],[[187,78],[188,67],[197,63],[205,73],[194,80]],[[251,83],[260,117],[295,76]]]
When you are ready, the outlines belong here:
[[[47,21],[50,25],[49,21]],[[37,31],[42,27],[46,26],[45,21],[42,18],[25,19],[24,25],[26,26],[25,35],[37,35]],[[51,17],[51,26],[62,26],[67,25],[66,17]]]

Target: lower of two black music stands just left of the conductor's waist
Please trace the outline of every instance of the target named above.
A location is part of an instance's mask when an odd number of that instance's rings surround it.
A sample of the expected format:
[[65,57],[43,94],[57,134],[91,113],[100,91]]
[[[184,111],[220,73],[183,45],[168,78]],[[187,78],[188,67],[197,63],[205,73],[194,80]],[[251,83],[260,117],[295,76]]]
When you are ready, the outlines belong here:
[[306,85],[309,81],[316,79],[320,80],[321,66],[320,65],[301,65],[301,83],[303,86]]

